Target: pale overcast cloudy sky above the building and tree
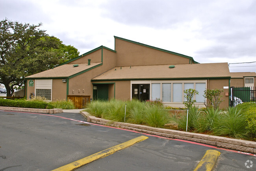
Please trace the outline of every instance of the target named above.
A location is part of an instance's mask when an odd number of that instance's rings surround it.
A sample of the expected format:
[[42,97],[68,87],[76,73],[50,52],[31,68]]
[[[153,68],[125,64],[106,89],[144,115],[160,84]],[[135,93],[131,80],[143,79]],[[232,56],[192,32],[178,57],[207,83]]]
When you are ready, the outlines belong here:
[[[199,63],[256,61],[256,0],[0,0],[0,9],[1,20],[41,22],[80,54],[114,50],[117,36]],[[256,72],[256,63],[230,66]]]

